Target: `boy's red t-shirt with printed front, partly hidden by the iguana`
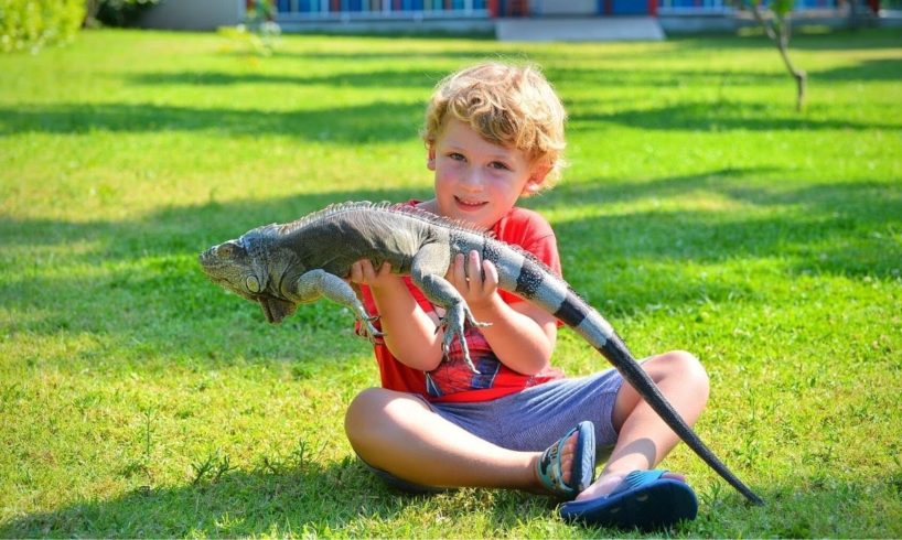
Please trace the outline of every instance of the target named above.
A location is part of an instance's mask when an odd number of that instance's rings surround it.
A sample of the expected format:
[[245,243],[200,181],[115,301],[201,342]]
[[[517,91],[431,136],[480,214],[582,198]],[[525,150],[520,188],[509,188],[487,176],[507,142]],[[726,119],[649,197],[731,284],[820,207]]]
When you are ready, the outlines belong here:
[[[407,204],[412,206],[417,204],[417,201],[410,201]],[[535,212],[512,208],[492,227],[492,231],[495,238],[520,246],[560,276],[560,257],[555,233],[548,222]],[[427,313],[433,313],[436,307],[414,285],[410,278],[406,276],[404,280],[420,307]],[[362,287],[362,290],[367,312],[376,314],[376,304],[369,288]],[[500,291],[500,294],[502,300],[508,304],[524,302],[519,296],[506,291]],[[378,321],[375,325],[382,330]],[[458,341],[451,345],[448,356],[439,367],[426,372],[401,364],[391,355],[385,342],[377,338],[374,352],[379,365],[383,388],[419,393],[427,400],[436,402],[487,401],[563,377],[562,371],[551,367],[536,375],[514,371],[497,359],[477,328],[468,327],[464,337],[470,349],[470,357],[480,374],[474,374],[466,366]]]

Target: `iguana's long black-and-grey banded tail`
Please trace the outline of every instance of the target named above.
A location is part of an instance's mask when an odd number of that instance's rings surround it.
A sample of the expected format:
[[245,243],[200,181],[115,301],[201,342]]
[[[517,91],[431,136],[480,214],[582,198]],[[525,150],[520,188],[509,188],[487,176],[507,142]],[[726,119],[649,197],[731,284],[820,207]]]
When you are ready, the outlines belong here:
[[692,429],[661,393],[648,374],[640,367],[626,345],[611,324],[591,305],[582,300],[563,280],[544,268],[540,262],[524,258],[516,278],[514,292],[526,298],[570,326],[620,371],[626,380],[667,425],[717,474],[755,505],[764,501],[742,483],[713,452],[698,438]]

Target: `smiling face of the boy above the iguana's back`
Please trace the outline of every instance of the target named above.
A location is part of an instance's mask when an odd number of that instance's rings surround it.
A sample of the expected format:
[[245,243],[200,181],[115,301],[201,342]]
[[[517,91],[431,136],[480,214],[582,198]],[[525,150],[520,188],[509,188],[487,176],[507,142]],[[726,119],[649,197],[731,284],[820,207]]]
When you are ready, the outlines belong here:
[[457,119],[429,149],[428,166],[436,172],[438,214],[484,228],[545,180],[522,150],[488,142]]

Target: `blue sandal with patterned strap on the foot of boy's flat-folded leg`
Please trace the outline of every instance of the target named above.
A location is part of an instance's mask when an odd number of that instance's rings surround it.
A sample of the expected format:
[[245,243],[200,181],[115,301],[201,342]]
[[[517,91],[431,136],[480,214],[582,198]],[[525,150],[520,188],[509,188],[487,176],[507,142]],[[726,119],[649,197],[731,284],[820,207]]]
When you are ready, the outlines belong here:
[[[563,482],[560,455],[567,440],[577,435],[570,482]],[[590,421],[580,422],[558,442],[549,446],[536,462],[536,475],[552,494],[563,499],[572,499],[595,479],[595,426]]]

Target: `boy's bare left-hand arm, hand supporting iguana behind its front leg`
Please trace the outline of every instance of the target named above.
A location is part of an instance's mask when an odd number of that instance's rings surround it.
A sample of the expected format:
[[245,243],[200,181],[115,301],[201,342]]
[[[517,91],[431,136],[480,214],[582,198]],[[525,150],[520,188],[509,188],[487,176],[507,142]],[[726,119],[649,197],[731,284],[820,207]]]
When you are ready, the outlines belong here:
[[442,335],[436,333],[436,322],[420,307],[404,280],[391,273],[389,263],[376,271],[368,260],[357,261],[351,268],[350,279],[369,287],[379,312],[383,339],[398,361],[423,371],[441,364]]

